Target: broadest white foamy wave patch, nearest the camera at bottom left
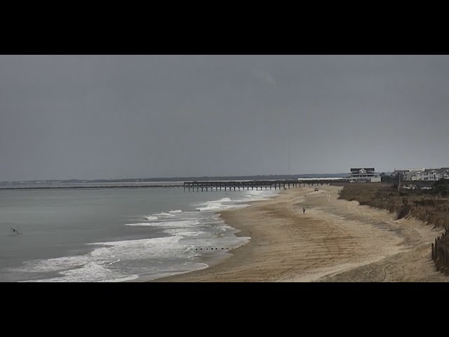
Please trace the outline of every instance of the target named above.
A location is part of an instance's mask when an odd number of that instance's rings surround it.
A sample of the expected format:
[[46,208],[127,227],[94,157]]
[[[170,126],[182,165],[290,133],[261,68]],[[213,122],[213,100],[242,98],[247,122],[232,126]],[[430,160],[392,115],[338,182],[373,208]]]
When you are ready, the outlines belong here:
[[[130,282],[142,275],[158,278],[159,274],[189,272],[204,267],[201,263],[192,261],[198,255],[192,249],[192,242],[183,240],[175,232],[170,237],[95,242],[87,245],[95,248],[84,255],[32,260],[11,270],[29,273],[32,279],[22,282]],[[177,260],[173,261],[173,258]],[[161,265],[163,260],[172,262]],[[130,269],[130,263],[137,263],[137,267]],[[49,272],[58,276],[32,277],[33,274],[37,276]]]

